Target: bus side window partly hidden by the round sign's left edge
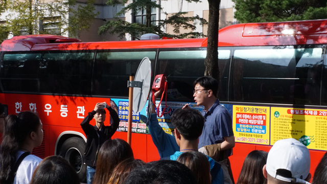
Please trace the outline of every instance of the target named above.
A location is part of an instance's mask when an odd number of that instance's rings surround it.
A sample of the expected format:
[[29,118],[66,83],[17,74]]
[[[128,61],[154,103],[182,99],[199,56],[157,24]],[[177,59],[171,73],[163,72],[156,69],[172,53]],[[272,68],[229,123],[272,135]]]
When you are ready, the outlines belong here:
[[154,67],[155,51],[98,52],[94,66],[92,95],[128,97],[127,81],[135,75],[144,57],[152,61]]

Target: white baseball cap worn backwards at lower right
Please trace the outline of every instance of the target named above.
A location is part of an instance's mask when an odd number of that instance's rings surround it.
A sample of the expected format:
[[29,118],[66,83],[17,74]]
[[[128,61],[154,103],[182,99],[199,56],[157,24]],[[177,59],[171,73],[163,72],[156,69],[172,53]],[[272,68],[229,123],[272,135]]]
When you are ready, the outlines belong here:
[[293,138],[279,140],[268,153],[266,170],[276,179],[308,184],[304,179],[310,172],[309,149]]

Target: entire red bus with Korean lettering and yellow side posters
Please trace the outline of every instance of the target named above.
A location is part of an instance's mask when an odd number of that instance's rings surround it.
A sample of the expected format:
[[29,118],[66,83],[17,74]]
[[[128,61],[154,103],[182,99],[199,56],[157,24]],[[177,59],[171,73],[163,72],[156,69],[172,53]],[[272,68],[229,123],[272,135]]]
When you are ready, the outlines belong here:
[[[311,173],[327,150],[327,20],[239,24],[219,31],[219,99],[233,120],[230,156],[235,180],[252,150],[269,151],[293,137],[310,149]],[[9,114],[37,111],[44,140],[33,154],[62,155],[85,177],[82,119],[97,102],[113,101],[127,140],[129,76],[144,57],[152,77],[168,77],[168,106],[158,118],[170,133],[171,113],[193,101],[204,74],[205,38],[80,42],[55,35],[16,36],[0,48],[0,102]],[[161,110],[164,109],[164,103]],[[159,159],[146,122],[147,105],[133,113],[132,149],[145,162]],[[107,120],[108,121],[108,120]],[[107,122],[108,124],[108,122]]]

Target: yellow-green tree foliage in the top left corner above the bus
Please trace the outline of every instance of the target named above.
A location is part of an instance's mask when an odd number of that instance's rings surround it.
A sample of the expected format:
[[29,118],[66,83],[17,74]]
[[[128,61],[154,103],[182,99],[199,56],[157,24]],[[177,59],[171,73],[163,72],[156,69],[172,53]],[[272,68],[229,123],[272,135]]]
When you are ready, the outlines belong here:
[[[5,9],[11,12],[6,16],[6,24],[2,25],[3,31],[0,36],[4,35],[4,37],[8,37],[8,34],[62,35],[65,32],[69,32],[69,36],[76,37],[81,29],[88,29],[89,22],[98,15],[94,13],[95,0],[87,0],[86,4],[76,4],[76,0],[55,0],[53,3],[44,3],[40,0],[39,4],[32,0],[0,1],[6,1]],[[43,29],[42,22],[58,29],[55,32],[54,29]]]

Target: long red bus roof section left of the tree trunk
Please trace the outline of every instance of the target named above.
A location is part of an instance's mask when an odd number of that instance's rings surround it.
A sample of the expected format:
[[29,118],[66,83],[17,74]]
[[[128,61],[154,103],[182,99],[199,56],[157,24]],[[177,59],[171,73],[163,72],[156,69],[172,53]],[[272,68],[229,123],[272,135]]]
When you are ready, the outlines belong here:
[[[198,48],[202,47],[204,38],[137,40],[137,41],[99,41],[99,42],[54,42],[56,35],[47,35],[40,40],[40,35],[17,36],[5,40],[0,51],[57,51],[57,50],[102,50],[102,49],[146,49],[146,48]],[[60,37],[62,38],[62,37]],[[63,37],[65,38],[65,37]]]

